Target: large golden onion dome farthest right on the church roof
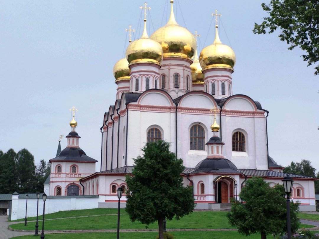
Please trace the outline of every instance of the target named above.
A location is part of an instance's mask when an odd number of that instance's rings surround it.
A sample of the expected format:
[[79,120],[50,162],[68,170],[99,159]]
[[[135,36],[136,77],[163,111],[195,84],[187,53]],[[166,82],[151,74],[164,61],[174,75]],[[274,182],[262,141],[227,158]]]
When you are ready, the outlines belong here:
[[204,69],[207,68],[224,68],[234,70],[236,55],[233,49],[221,43],[217,31],[213,44],[205,47],[199,55],[199,63]]

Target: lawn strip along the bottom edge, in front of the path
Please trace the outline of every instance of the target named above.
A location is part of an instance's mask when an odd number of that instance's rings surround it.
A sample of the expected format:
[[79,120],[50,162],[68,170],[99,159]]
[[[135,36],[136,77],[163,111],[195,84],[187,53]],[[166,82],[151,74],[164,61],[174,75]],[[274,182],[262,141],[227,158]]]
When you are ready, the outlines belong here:
[[[251,235],[249,237],[242,236],[236,231],[215,231],[215,232],[202,232],[202,231],[189,231],[189,232],[170,232],[174,235],[175,239],[260,239],[259,234]],[[153,239],[158,235],[157,232],[121,232],[121,239]],[[19,239],[34,239],[34,235],[14,237]],[[45,234],[45,239],[114,239],[116,233],[113,232],[91,232],[91,233],[68,233],[68,234]],[[273,238],[269,235],[269,238]]]

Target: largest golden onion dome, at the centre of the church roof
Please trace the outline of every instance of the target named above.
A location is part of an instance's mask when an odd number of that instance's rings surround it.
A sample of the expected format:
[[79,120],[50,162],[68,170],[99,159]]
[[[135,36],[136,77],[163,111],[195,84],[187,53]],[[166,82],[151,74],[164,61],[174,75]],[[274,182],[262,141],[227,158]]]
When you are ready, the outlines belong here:
[[167,24],[156,30],[151,35],[151,39],[159,42],[162,46],[164,58],[192,58],[196,49],[195,37],[189,30],[177,24],[174,17],[173,2],[171,0],[171,15]]

